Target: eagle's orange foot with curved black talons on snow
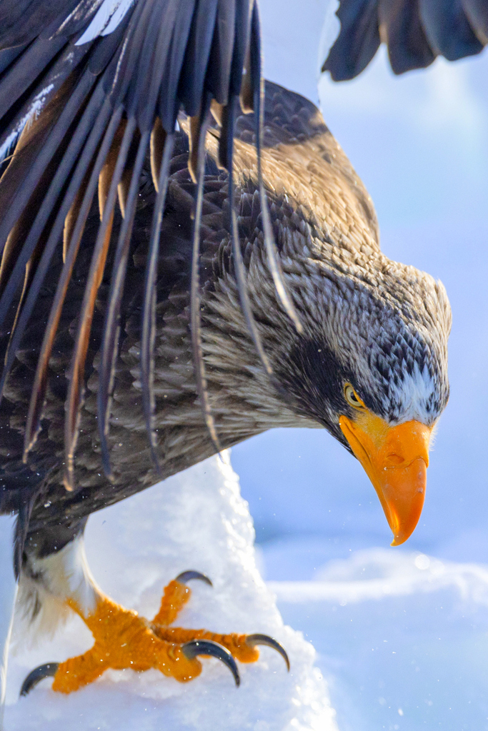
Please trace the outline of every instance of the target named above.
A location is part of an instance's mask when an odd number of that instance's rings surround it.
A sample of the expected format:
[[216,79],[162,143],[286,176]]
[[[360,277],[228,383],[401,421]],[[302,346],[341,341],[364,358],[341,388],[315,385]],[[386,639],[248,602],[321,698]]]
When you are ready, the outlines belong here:
[[165,587],[161,606],[152,621],[140,617],[133,610],[124,609],[108,596],[99,596],[94,611],[88,614],[69,602],[91,630],[95,640],[93,647],[65,662],[36,668],[24,681],[21,694],[28,694],[42,678],[51,675],[54,691],[71,693],[92,683],[109,668],[131,668],[139,672],[155,668],[163,675],[185,683],[201,673],[198,656],[213,656],[221,660],[239,686],[235,659],[255,662],[259,657],[258,645],[268,645],[277,650],[290,669],[285,649],[268,635],[218,635],[206,629],[168,626],[189,600],[191,592],[185,582],[190,579],[200,579],[211,586],[209,578],[199,572],[180,574]]

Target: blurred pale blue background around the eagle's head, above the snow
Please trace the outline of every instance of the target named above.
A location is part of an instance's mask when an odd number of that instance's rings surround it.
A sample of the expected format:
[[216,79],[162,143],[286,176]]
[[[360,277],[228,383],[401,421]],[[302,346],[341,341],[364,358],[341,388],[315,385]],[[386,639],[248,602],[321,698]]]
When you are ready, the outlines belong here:
[[[488,53],[394,77],[381,48],[337,84],[319,74],[334,2],[260,5],[266,77],[320,103],[375,203],[383,251],[441,279],[451,300],[451,399],[404,548],[488,563]],[[232,462],[269,580],[309,579],[329,558],[391,541],[366,474],[325,431],[269,431]]]

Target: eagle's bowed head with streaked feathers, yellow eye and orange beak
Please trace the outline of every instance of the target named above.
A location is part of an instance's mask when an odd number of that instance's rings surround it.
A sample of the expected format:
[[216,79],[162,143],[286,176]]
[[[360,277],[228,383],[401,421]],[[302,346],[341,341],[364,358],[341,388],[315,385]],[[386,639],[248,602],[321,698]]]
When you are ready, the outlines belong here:
[[359,459],[399,545],[418,523],[448,401],[446,290],[380,252],[347,268],[308,260],[307,276],[288,279],[303,333],[275,349],[279,383]]

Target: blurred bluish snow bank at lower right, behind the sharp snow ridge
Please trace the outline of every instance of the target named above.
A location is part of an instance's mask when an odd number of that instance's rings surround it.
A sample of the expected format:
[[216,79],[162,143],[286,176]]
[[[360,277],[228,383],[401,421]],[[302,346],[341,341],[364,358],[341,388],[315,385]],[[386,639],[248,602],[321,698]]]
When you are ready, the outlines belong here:
[[488,567],[372,548],[315,575],[269,586],[318,651],[341,731],[488,731]]

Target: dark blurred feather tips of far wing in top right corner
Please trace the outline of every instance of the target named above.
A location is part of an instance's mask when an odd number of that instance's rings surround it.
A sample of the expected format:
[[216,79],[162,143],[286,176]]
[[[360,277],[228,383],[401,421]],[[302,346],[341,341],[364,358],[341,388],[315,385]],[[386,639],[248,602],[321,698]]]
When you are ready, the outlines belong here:
[[395,74],[480,53],[488,43],[487,0],[340,0],[339,36],[322,70],[353,79],[388,48]]

